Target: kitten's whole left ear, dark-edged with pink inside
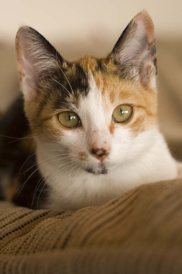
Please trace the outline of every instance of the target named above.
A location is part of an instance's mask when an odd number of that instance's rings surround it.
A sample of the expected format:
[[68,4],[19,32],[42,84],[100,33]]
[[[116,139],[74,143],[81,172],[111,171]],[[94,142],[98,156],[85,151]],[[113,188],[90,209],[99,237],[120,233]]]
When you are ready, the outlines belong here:
[[15,39],[16,58],[21,89],[25,99],[34,99],[39,93],[42,79],[59,68],[63,58],[36,30],[21,27]]

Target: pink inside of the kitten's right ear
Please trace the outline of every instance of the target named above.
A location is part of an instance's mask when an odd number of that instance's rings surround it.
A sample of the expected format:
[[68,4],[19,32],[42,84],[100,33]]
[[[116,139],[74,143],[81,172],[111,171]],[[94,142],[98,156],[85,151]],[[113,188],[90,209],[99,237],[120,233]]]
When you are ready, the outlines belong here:
[[139,13],[133,19],[130,31],[125,38],[120,52],[120,61],[122,65],[138,68],[143,86],[151,84],[155,87],[156,69],[153,63],[155,54],[155,33],[152,19],[145,12]]

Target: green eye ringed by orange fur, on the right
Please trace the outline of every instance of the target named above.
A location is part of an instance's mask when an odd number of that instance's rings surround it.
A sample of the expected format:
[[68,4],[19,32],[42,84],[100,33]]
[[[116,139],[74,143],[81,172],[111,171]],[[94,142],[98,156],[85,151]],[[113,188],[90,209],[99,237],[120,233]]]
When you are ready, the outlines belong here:
[[121,105],[115,108],[112,118],[116,123],[123,123],[132,116],[133,108],[129,105]]

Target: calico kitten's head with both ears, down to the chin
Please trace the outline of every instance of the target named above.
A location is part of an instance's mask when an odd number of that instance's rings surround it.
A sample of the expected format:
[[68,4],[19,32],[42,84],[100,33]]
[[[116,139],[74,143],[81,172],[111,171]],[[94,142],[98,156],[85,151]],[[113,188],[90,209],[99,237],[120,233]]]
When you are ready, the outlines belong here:
[[[36,30],[16,35],[25,113],[37,146],[85,172],[106,174],[149,146],[157,124],[152,19],[139,12],[107,58],[62,58]],[[130,156],[129,156],[130,155]]]

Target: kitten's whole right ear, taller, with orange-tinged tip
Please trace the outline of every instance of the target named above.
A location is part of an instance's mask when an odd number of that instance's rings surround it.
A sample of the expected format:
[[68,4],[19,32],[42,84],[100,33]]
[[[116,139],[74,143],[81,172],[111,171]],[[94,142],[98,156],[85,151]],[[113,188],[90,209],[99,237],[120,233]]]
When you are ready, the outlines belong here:
[[139,79],[144,87],[156,86],[154,25],[145,11],[139,12],[119,37],[110,55],[125,76]]

